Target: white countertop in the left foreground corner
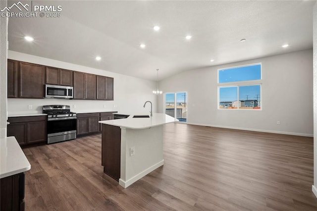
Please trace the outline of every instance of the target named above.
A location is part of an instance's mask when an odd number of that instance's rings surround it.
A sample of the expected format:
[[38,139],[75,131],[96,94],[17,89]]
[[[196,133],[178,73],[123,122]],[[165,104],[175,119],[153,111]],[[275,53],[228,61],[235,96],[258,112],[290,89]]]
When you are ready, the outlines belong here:
[[31,169],[29,160],[13,136],[0,139],[0,158],[0,178]]

